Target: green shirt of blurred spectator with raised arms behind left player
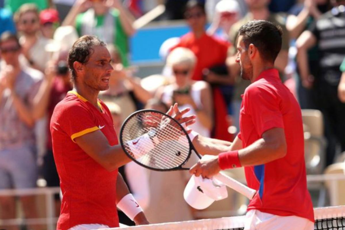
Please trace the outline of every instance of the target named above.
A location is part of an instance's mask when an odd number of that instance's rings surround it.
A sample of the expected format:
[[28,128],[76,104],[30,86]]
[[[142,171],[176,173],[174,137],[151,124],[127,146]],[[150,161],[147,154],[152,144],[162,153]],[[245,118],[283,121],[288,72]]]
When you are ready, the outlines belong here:
[[[116,9],[110,9],[111,15],[114,17],[114,39],[113,43],[114,46],[116,46],[119,50],[122,64],[125,67],[128,67],[128,38],[127,34],[125,33],[124,29],[122,28],[121,22],[120,22],[120,12]],[[85,13],[78,14],[76,18],[76,30],[79,34],[79,36],[83,36],[85,34],[82,34],[81,28],[82,28],[82,22],[83,17],[85,16]],[[102,27],[104,24],[105,15],[95,15],[95,21],[96,21],[96,28]]]

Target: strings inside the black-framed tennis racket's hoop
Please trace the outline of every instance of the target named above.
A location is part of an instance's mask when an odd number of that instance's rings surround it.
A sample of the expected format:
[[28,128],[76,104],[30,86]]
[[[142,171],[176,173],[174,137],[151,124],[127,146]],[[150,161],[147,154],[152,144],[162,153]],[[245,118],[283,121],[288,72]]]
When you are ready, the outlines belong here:
[[[152,128],[156,128],[160,143],[150,151],[145,152],[145,149],[149,149],[150,143],[141,142],[140,148],[145,153],[136,156],[135,159],[142,164],[156,169],[175,168],[180,166],[188,158],[189,141],[186,134],[181,130],[181,127],[174,120],[168,117],[163,119],[164,115],[159,115],[160,117],[154,116],[152,113],[137,114],[137,116],[126,123],[122,132],[122,139],[126,143],[149,132]],[[154,122],[156,123],[156,127],[146,125]],[[174,122],[175,126],[171,125]],[[124,133],[126,133],[125,137]],[[126,149],[130,150],[128,146]]]

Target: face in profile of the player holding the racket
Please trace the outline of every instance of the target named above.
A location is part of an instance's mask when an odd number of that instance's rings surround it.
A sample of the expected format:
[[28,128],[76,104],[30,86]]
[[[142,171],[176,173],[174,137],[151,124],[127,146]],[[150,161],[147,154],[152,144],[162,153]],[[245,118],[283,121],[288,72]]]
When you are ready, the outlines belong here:
[[253,65],[248,57],[248,50],[242,41],[242,36],[238,37],[237,41],[237,56],[236,62],[240,65],[241,78],[245,80],[250,80],[253,77]]

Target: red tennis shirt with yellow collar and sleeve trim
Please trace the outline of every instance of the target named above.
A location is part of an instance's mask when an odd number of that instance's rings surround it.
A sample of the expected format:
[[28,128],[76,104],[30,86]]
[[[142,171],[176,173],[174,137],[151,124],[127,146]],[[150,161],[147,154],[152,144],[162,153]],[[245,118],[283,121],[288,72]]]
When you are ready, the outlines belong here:
[[74,91],[54,109],[50,131],[53,154],[62,191],[58,230],[78,224],[118,227],[116,209],[117,170],[107,171],[84,152],[74,139],[101,130],[111,146],[118,144],[109,109],[98,101],[102,112]]

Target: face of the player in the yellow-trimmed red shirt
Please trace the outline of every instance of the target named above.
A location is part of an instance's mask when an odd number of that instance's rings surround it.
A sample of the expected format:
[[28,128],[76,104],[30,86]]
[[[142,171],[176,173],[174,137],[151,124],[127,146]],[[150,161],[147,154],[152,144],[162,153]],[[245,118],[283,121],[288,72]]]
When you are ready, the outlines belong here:
[[109,89],[109,78],[113,70],[110,61],[110,53],[104,46],[95,46],[92,48],[89,61],[84,64],[81,81],[89,88],[96,91]]

